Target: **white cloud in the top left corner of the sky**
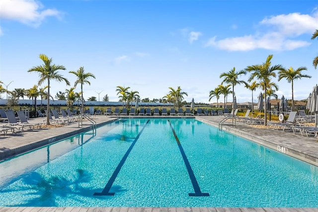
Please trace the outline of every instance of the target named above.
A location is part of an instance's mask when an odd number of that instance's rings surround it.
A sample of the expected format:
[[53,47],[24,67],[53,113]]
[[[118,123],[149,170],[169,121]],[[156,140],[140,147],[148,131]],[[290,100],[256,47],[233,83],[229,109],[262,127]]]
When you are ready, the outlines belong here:
[[61,17],[56,9],[44,9],[43,4],[35,0],[0,0],[0,18],[16,20],[23,24],[39,26],[48,16]]

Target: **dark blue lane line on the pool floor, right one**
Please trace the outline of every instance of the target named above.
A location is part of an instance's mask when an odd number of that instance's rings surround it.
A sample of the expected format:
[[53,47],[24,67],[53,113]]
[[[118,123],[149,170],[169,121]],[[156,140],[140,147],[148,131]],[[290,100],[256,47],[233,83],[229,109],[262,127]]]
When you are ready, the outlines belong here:
[[210,196],[209,193],[202,193],[202,192],[201,192],[201,189],[200,189],[200,186],[199,186],[199,184],[198,184],[198,181],[197,181],[197,179],[195,178],[195,175],[194,175],[194,173],[193,173],[193,170],[192,170],[192,168],[191,168],[191,165],[190,165],[190,163],[189,163],[189,160],[188,160],[187,156],[185,155],[185,152],[184,152],[184,150],[183,150],[183,148],[182,148],[182,145],[181,145],[181,143],[180,143],[180,140],[179,140],[177,134],[175,133],[175,131],[174,131],[174,129],[173,129],[173,126],[172,126],[170,120],[168,120],[168,121],[169,121],[169,124],[170,124],[170,128],[172,129],[174,138],[175,138],[175,140],[177,141],[179,150],[180,150],[180,152],[181,152],[181,155],[182,155],[182,158],[183,158],[185,167],[187,168],[187,171],[188,171],[188,174],[189,174],[189,177],[190,177],[190,180],[191,180],[191,182],[192,182],[192,186],[193,186],[193,189],[194,189],[194,192],[195,192],[195,193],[189,193],[189,196],[190,196],[190,197],[208,197],[208,196]]

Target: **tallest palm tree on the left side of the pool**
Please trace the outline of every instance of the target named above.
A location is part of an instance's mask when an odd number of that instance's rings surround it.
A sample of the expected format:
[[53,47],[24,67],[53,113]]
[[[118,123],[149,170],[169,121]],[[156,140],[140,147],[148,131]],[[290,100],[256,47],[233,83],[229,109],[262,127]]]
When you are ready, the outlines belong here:
[[[59,74],[58,70],[66,70],[64,66],[52,64],[52,58],[48,58],[45,54],[40,54],[39,58],[43,61],[43,65],[35,66],[28,70],[28,72],[38,72],[39,73],[39,82],[40,86],[46,80],[48,81],[48,97],[50,97],[50,81],[56,80],[58,82],[64,81],[68,86],[70,82],[68,79],[64,78]],[[47,111],[50,111],[50,98],[47,98]],[[47,125],[50,124],[50,117],[47,116],[46,120]]]

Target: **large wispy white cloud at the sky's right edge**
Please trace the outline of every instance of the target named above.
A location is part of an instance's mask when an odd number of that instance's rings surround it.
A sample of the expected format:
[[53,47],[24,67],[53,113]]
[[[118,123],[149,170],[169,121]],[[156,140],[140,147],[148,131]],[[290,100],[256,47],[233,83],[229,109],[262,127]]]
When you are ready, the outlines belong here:
[[290,13],[266,17],[259,22],[259,26],[261,29],[267,26],[267,31],[223,40],[217,40],[217,37],[214,36],[206,42],[205,46],[228,51],[254,49],[283,51],[309,46],[310,42],[297,39],[297,37],[315,31],[318,26],[318,12],[313,15]]

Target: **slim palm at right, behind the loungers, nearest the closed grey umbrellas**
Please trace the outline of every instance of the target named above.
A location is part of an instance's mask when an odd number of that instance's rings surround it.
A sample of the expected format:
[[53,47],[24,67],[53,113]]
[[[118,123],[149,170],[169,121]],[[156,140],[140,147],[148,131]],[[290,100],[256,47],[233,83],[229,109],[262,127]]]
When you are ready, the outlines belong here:
[[278,72],[278,81],[285,78],[288,83],[292,83],[292,110],[294,110],[294,80],[302,79],[303,77],[312,77],[306,74],[302,74],[302,71],[304,70],[307,70],[307,68],[299,67],[295,70],[293,67],[290,67],[289,69],[280,70]]

